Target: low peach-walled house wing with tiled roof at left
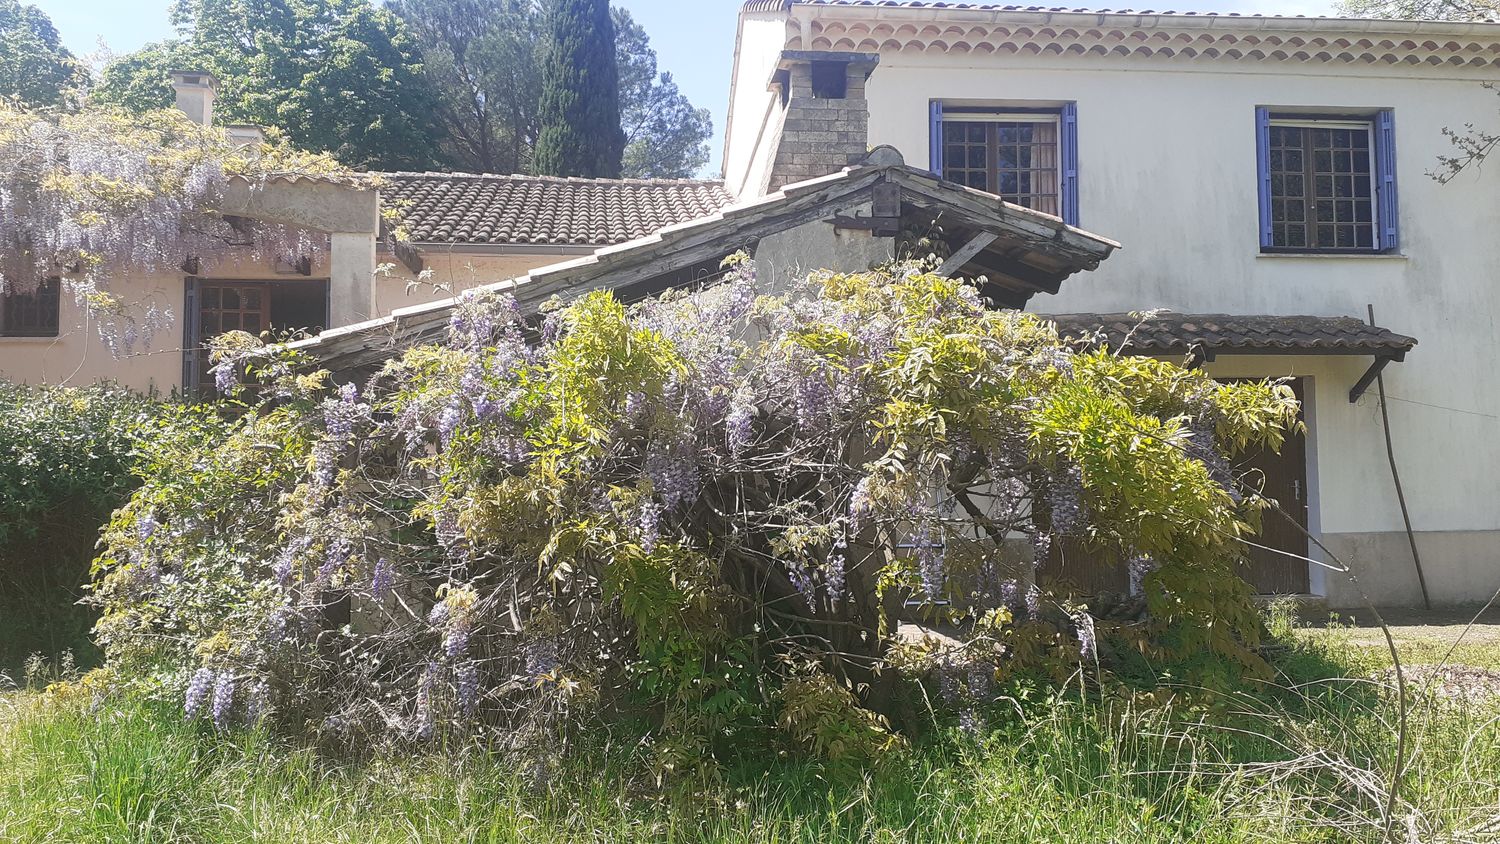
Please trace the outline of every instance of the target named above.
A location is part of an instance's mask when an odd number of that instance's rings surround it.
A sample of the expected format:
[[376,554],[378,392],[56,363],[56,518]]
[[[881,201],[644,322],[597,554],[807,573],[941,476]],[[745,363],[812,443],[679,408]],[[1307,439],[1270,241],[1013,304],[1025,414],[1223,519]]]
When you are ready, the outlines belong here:
[[[174,72],[177,106],[213,123],[218,81]],[[258,129],[228,127],[252,139]],[[232,183],[225,214],[314,232],[318,249],[291,261],[226,249],[184,255],[183,267],[112,279],[128,303],[170,309],[180,331],[117,358],[84,309],[56,282],[0,295],[0,378],[110,379],[140,390],[196,393],[204,340],[228,330],[318,331],[446,298],[534,267],[568,261],[711,213],[732,198],[718,181],[585,180],[530,175],[378,174],[376,189],[315,178]],[[380,208],[396,208],[410,243],[393,249]],[[168,336],[171,334],[171,336]]]

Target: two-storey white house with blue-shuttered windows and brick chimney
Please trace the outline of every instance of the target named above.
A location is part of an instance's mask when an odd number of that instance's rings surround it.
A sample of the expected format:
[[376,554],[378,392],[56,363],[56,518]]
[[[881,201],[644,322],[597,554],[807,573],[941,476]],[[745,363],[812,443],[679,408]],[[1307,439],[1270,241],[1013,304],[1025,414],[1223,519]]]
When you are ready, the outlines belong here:
[[[1029,307],[1116,342],[1125,312],[1170,309],[1134,351],[1294,378],[1308,433],[1263,459],[1268,487],[1371,597],[1420,604],[1380,373],[1426,592],[1484,603],[1500,589],[1500,193],[1428,172],[1452,153],[1444,127],[1492,121],[1497,79],[1488,22],[752,0],[724,180],[756,195],[890,144],[1119,240]],[[1264,591],[1359,604],[1276,553],[1322,558],[1300,531],[1268,523],[1262,541]]]

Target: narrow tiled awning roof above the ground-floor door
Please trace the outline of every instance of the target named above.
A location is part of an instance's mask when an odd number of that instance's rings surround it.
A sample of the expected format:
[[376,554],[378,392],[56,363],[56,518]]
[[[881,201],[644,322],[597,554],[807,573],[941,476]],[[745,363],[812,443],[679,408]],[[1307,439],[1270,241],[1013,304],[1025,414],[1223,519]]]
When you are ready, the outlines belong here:
[[1142,354],[1188,352],[1194,348],[1216,354],[1366,354],[1395,355],[1412,351],[1414,337],[1396,334],[1354,316],[1275,316],[1269,313],[1172,313],[1149,319],[1130,313],[1044,315],[1058,331],[1072,339],[1090,339],[1102,331],[1110,348]]

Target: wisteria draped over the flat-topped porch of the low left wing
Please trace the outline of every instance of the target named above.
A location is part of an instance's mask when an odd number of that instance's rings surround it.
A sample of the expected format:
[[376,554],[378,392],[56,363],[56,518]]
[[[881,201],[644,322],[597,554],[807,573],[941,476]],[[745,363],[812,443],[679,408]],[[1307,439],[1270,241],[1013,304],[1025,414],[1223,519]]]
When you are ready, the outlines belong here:
[[327,237],[214,211],[230,178],[362,177],[273,138],[237,147],[176,109],[51,114],[0,103],[0,292],[60,277],[117,355],[150,343],[171,306],[132,301],[111,282],[189,258],[316,258]]

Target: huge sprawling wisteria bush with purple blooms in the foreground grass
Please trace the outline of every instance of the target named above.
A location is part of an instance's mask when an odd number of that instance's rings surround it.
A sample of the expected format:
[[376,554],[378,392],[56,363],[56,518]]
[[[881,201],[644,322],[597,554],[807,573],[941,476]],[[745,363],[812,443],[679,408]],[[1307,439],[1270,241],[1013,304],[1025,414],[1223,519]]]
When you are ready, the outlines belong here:
[[[524,316],[466,294],[447,343],[362,385],[226,346],[258,403],[159,445],[106,534],[117,666],[176,678],[189,717],[354,744],[555,750],[640,712],[670,768],[771,724],[876,753],[903,684],[972,724],[1006,676],[1104,670],[1106,639],[1258,664],[1257,499],[1200,454],[1276,447],[1286,387],[1077,351],[900,265],[764,297],[734,261]],[[1140,612],[1038,583],[1080,543],[1131,561]]]

